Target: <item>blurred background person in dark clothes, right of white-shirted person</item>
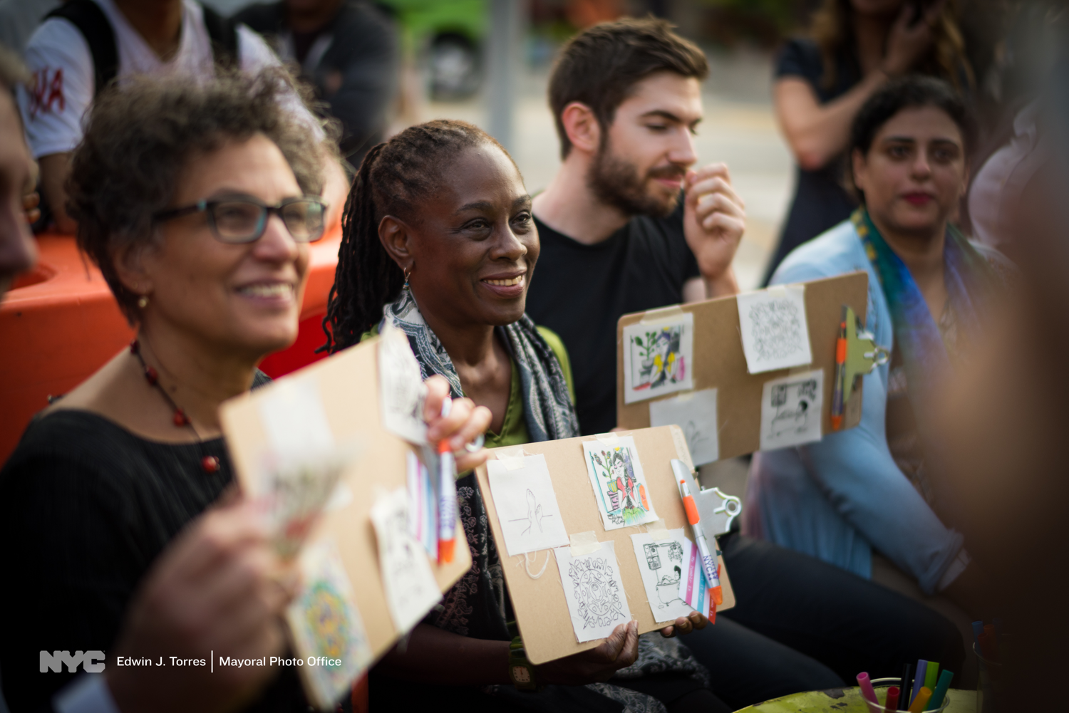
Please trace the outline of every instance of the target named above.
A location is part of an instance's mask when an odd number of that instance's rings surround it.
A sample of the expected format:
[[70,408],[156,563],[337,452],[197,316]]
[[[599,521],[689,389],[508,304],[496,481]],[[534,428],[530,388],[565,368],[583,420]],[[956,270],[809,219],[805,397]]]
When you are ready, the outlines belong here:
[[367,2],[280,0],[234,15],[292,62],[341,122],[342,156],[353,167],[381,142],[399,80],[393,24]]

